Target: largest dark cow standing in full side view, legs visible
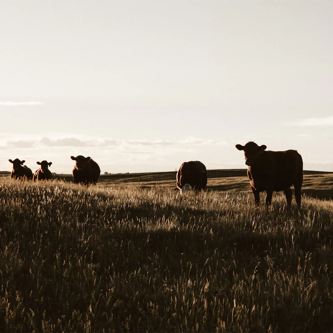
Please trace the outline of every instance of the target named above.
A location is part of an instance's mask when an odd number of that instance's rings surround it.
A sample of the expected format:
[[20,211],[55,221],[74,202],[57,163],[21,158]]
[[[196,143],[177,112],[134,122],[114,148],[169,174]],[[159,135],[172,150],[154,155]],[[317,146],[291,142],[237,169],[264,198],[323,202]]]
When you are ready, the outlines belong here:
[[284,152],[265,151],[265,145],[258,146],[248,142],[245,146],[236,145],[243,150],[247,175],[254,194],[255,206],[259,207],[259,192],[266,191],[266,205],[271,204],[274,191],[284,191],[288,210],[291,209],[291,189],[294,185],[298,208],[301,205],[301,187],[303,182],[303,160],[296,150]]

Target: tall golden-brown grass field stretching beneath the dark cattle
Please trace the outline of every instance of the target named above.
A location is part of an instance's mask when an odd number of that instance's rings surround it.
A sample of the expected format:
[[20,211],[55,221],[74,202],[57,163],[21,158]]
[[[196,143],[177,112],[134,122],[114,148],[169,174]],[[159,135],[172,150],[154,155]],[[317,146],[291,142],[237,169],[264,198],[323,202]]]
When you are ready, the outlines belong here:
[[333,175],[306,174],[291,214],[213,175],[183,197],[168,174],[0,177],[0,331],[331,331],[333,205],[307,194]]

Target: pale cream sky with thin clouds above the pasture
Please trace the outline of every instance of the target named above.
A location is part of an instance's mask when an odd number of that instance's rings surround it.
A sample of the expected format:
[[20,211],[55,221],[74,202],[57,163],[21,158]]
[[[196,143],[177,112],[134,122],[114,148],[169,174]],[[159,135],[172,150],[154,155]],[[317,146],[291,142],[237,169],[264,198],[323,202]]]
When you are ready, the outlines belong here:
[[[245,168],[235,144],[333,171],[333,2],[0,4],[0,170]],[[35,169],[34,169],[35,168]]]

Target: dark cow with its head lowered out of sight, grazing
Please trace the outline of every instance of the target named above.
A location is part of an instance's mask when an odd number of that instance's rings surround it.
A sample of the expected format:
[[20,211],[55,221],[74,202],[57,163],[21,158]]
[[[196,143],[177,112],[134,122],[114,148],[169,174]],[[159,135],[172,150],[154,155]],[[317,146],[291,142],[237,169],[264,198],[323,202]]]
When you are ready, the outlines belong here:
[[200,191],[207,184],[207,170],[204,164],[199,161],[184,162],[177,174],[176,185],[180,194],[186,190]]

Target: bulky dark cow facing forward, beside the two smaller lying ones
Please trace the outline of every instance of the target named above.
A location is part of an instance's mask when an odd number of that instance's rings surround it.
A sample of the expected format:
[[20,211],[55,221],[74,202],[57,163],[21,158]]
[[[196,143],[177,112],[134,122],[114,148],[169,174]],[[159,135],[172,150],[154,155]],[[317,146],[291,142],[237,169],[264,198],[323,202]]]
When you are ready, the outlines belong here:
[[98,164],[90,157],[79,155],[77,157],[71,156],[75,161],[73,169],[73,180],[77,184],[94,184],[96,185],[98,178],[101,174],[101,169]]

